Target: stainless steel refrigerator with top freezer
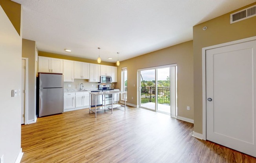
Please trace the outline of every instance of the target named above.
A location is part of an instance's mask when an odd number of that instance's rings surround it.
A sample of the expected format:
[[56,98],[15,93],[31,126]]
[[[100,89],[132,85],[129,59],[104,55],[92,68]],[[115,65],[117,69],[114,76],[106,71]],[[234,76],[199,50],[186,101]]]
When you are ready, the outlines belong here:
[[39,117],[64,111],[62,74],[39,73]]

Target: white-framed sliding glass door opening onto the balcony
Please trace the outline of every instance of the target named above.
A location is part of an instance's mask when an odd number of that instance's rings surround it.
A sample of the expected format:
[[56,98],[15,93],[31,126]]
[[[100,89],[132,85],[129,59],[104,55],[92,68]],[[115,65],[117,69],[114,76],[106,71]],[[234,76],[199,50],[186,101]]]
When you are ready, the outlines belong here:
[[139,106],[176,117],[176,64],[138,70]]

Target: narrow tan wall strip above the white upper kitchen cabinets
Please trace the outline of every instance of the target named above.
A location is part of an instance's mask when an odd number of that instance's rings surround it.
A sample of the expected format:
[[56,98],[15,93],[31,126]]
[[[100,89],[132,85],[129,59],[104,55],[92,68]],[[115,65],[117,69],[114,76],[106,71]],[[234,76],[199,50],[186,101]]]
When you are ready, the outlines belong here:
[[73,61],[79,61],[79,62],[87,62],[87,63],[95,63],[95,64],[101,64],[101,65],[117,66],[115,63],[104,62],[104,61],[101,61],[101,63],[98,63],[97,60],[90,60],[90,59],[86,59],[86,58],[66,56],[66,55],[55,54],[55,53],[48,53],[48,52],[44,52],[44,51],[39,51],[38,55],[39,56],[52,57],[52,58],[60,58],[60,59],[64,59],[64,60],[73,60]]

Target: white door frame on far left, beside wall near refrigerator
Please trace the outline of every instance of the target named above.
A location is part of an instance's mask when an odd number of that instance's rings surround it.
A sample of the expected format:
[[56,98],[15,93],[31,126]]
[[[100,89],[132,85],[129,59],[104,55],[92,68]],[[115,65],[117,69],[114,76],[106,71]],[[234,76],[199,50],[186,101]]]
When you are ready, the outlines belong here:
[[22,60],[25,60],[25,125],[28,123],[28,58],[22,57]]

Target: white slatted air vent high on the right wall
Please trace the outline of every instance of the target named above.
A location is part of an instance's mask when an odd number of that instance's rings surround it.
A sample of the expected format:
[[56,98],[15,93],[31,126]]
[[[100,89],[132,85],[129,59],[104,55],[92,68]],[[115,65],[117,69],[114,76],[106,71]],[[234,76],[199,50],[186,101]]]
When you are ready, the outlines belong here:
[[230,24],[256,16],[256,5],[230,14]]

